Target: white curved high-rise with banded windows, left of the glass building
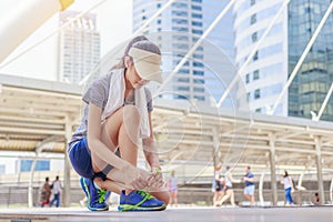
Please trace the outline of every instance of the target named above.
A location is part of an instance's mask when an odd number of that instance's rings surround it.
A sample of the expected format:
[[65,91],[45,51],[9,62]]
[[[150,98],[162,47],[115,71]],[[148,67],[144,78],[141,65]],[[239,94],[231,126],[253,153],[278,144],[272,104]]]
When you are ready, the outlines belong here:
[[[276,1],[235,1],[234,33],[235,62],[241,69],[248,60],[254,46],[262,38],[284,0]],[[240,84],[246,92],[238,93],[240,109],[244,107],[255,112],[265,113],[268,108],[278,99],[286,82],[287,67],[287,9],[280,14],[271,31],[251,58],[245,71],[241,74]],[[285,74],[283,74],[285,73]],[[275,114],[287,114],[287,95],[278,105]]]

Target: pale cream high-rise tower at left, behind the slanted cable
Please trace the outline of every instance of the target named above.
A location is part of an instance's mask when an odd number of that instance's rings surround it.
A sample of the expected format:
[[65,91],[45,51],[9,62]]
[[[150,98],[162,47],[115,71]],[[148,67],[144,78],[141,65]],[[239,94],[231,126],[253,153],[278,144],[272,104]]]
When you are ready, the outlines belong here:
[[[60,26],[75,18],[79,12],[60,12]],[[79,84],[100,61],[100,33],[95,16],[88,13],[71,22],[59,33],[59,80]]]

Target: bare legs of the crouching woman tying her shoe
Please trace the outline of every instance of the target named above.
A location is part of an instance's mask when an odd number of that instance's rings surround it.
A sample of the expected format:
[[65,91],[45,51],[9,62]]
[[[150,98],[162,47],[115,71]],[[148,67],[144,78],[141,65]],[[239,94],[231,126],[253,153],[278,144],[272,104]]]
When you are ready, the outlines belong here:
[[[101,140],[102,142],[113,152],[115,152],[117,147],[120,149],[121,158],[132,165],[137,167],[138,160],[138,140],[139,140],[139,123],[140,114],[134,105],[125,105],[119,109],[115,113],[109,117],[103,124]],[[105,168],[107,163],[94,157],[94,172],[99,172]],[[125,190],[125,193],[130,193],[132,189],[125,188],[124,174],[118,170],[112,169],[107,178],[109,180],[102,181],[101,179],[95,179],[95,183],[104,190],[121,193]],[[162,192],[151,192],[152,195],[169,203],[169,193],[167,191]]]

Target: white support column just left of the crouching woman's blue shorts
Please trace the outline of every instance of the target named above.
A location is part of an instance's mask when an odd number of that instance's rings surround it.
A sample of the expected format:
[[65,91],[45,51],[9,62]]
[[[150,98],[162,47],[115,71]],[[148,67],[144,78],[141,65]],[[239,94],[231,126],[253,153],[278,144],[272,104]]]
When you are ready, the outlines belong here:
[[[72,123],[69,118],[65,118],[65,144],[72,137]],[[67,145],[65,145],[67,147]],[[64,206],[70,206],[70,191],[71,191],[71,164],[68,158],[67,149],[64,150],[64,168],[63,168],[63,194],[62,201]]]

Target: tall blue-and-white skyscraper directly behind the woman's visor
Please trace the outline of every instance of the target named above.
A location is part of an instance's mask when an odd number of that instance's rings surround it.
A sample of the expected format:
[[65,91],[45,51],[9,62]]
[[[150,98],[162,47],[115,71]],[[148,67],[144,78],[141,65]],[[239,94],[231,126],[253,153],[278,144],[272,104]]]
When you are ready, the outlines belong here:
[[[163,53],[162,70],[169,74],[185,57],[214,18],[225,6],[225,0],[178,0],[143,30],[158,42]],[[138,30],[151,18],[162,3],[152,0],[133,1],[133,29]],[[232,39],[232,14],[222,20],[196,48],[194,53],[165,85],[161,97],[189,99],[204,102],[218,100],[223,92],[221,73],[234,73]],[[228,26],[225,26],[228,23]],[[229,29],[229,31],[225,31]],[[221,34],[223,33],[223,34]],[[226,40],[228,43],[225,43]],[[229,59],[231,58],[231,59]],[[224,64],[225,65],[219,65]],[[164,77],[164,79],[167,75]]]

